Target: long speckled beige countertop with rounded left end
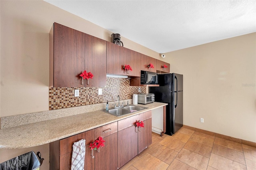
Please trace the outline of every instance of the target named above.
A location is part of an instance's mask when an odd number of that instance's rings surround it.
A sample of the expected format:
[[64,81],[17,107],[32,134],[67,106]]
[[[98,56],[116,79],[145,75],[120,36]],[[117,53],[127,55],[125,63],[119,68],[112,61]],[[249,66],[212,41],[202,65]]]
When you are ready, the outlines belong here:
[[0,148],[19,149],[47,144],[166,105],[167,103],[158,102],[147,105],[138,104],[148,109],[121,117],[100,110],[0,129]]

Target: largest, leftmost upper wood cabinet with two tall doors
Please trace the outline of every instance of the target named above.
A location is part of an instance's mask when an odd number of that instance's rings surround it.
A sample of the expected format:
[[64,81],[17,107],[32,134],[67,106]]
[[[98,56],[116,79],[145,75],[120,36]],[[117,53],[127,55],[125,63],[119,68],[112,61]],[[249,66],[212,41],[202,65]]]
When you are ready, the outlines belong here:
[[[93,79],[82,80],[86,70]],[[54,23],[50,31],[50,87],[106,85],[106,41]]]

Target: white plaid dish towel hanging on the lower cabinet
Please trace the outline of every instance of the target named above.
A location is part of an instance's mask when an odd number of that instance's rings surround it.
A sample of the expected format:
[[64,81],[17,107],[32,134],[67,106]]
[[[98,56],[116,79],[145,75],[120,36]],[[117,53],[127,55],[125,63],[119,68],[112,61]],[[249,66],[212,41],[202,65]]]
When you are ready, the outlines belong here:
[[73,144],[71,170],[84,170],[85,139]]

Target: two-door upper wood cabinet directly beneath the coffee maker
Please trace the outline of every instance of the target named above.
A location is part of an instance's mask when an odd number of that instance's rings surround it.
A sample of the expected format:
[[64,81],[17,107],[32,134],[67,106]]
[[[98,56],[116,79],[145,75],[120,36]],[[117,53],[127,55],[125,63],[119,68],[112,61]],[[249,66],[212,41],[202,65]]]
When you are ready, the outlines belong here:
[[[124,65],[130,65],[132,71],[124,71]],[[139,77],[140,53],[107,42],[107,73]]]

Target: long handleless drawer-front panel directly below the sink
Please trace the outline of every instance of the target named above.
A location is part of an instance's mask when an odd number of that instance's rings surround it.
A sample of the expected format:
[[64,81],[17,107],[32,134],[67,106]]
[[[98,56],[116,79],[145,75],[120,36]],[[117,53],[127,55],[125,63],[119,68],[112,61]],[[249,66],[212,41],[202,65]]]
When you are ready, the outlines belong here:
[[135,115],[135,116],[123,119],[121,121],[118,121],[118,131],[134,126],[136,121],[145,121],[151,117],[152,117],[151,111],[147,111],[147,112],[141,113],[140,115]]

